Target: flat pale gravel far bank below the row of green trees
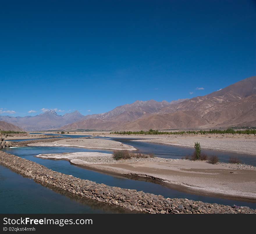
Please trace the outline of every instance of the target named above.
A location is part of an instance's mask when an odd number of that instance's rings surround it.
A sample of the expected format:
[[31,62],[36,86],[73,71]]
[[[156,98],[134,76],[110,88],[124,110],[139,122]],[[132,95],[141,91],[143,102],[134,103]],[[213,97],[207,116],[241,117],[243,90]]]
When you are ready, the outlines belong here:
[[[51,133],[51,132],[49,132]],[[125,138],[140,142],[193,148],[200,142],[206,150],[221,150],[233,153],[256,155],[256,136],[247,134],[206,134],[206,135],[123,135],[110,134],[110,131],[70,132],[67,135],[91,135],[92,137]],[[185,155],[184,155],[185,156]]]

